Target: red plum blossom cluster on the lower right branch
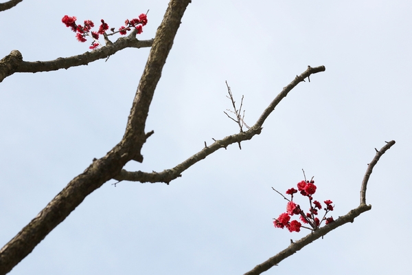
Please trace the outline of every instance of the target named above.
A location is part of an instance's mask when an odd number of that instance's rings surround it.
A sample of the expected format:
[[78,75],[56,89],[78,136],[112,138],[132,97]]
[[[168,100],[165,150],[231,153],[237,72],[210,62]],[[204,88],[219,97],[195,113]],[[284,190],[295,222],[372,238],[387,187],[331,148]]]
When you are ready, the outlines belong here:
[[[286,191],[286,194],[290,195],[290,199],[288,199],[273,188],[273,190],[278,192],[284,197],[284,199],[288,201],[288,204],[286,205],[286,212],[280,214],[279,217],[277,219],[274,219],[273,221],[275,228],[287,228],[290,232],[299,232],[301,228],[306,228],[314,231],[321,226],[321,223],[323,221],[325,221],[325,224],[332,223],[334,221],[333,217],[326,217],[328,212],[333,211],[334,209],[334,206],[332,206],[332,201],[330,199],[323,201],[323,203],[325,203],[325,207],[323,208],[322,203],[314,200],[312,197],[314,192],[316,192],[316,189],[317,186],[314,185],[313,179],[311,179],[310,181],[300,181],[297,184],[297,190],[295,188],[290,188]],[[309,199],[310,207],[308,212],[306,213],[301,209],[299,204],[293,201],[293,195],[297,192],[300,192],[302,196],[308,197]],[[319,219],[317,217],[318,212],[319,210],[322,210],[322,208],[323,210],[325,210],[325,214],[323,214],[323,217]],[[297,219],[290,221],[293,215],[299,216],[300,221],[297,221]],[[302,225],[302,223],[304,223],[304,225]]]

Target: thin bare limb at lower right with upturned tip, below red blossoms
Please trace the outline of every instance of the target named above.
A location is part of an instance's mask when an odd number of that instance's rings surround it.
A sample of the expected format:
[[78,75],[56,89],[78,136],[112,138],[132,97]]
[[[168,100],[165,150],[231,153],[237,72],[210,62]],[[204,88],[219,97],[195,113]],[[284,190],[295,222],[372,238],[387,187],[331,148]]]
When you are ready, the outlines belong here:
[[288,256],[295,254],[296,252],[304,248],[309,243],[312,243],[313,241],[319,239],[321,236],[325,236],[325,234],[328,234],[330,231],[334,230],[335,228],[339,228],[339,226],[344,225],[345,223],[349,223],[349,222],[353,223],[354,219],[358,217],[360,214],[368,210],[371,210],[372,206],[371,205],[367,206],[365,203],[365,192],[366,192],[367,181],[369,180],[369,176],[372,173],[373,166],[375,166],[375,164],[378,162],[379,157],[383,155],[389,148],[391,148],[393,144],[395,144],[394,140],[392,140],[391,142],[387,142],[387,144],[383,146],[380,149],[380,151],[375,149],[376,155],[374,159],[372,159],[372,162],[369,164],[366,170],[366,173],[365,173],[365,177],[363,178],[362,191],[364,192],[361,191],[361,204],[357,208],[350,210],[350,212],[345,214],[345,216],[339,217],[339,219],[336,219],[332,223],[328,223],[328,225],[325,225],[322,228],[319,228],[311,232],[310,234],[308,234],[307,236],[304,236],[299,241],[292,242],[288,246],[288,248],[286,248],[285,250],[282,250],[281,252],[271,257],[267,261],[264,261],[264,263],[261,263],[260,265],[256,265],[255,268],[253,268],[253,270],[246,272],[244,275],[257,275],[257,274],[261,274],[269,270],[271,267],[273,267],[274,265],[277,265],[284,259],[288,258]]

